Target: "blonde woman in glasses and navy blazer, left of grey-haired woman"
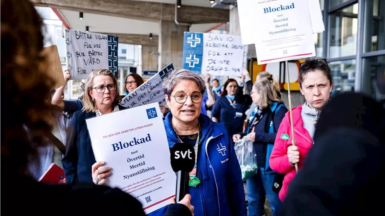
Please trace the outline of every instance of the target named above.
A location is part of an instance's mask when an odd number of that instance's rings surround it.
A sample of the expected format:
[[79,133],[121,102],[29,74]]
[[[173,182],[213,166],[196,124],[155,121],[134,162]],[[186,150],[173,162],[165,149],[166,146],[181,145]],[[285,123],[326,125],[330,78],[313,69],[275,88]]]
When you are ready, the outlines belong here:
[[109,167],[100,168],[97,172],[103,175],[99,179],[92,179],[91,168],[96,161],[85,119],[119,110],[121,99],[112,71],[92,71],[85,81],[84,107],[74,113],[68,126],[67,150],[62,160],[67,184],[105,181],[104,178],[110,174]]

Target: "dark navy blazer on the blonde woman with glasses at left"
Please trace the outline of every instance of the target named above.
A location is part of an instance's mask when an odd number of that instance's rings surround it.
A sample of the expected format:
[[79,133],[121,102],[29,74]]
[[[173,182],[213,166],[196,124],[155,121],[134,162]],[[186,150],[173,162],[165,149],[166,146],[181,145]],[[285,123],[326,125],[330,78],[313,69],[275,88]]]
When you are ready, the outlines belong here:
[[80,110],[68,125],[67,150],[62,159],[67,184],[93,183],[91,167],[96,161],[85,119],[95,116]]

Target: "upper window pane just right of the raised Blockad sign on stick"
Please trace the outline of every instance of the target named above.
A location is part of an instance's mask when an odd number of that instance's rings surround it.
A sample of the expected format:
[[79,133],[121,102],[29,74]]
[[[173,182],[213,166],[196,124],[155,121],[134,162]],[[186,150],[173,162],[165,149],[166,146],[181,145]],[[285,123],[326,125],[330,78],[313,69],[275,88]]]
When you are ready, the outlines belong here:
[[330,14],[329,58],[356,55],[358,3]]

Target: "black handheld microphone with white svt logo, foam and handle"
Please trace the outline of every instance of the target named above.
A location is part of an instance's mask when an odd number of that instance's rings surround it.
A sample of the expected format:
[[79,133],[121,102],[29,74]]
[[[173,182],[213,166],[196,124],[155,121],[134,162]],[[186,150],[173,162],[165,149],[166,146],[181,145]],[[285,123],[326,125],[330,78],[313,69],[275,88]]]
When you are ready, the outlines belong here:
[[194,169],[194,147],[187,143],[176,143],[171,149],[171,167],[176,172],[176,201],[181,201],[189,190],[189,173]]

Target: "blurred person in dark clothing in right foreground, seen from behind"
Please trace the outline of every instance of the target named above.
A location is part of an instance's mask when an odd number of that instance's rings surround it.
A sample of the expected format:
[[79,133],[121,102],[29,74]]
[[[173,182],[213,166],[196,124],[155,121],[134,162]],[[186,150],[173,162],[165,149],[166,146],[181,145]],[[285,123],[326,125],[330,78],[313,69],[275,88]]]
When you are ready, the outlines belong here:
[[280,215],[377,215],[382,211],[385,109],[358,93],[323,109],[314,146],[290,184]]

